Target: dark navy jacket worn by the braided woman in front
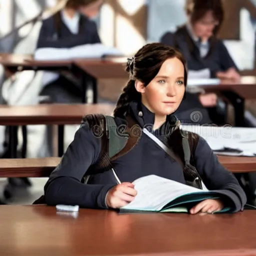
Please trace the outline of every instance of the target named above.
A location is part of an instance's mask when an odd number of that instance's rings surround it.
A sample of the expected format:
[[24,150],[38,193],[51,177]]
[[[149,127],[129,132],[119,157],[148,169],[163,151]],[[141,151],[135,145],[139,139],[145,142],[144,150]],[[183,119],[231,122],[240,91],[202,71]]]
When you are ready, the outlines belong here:
[[[143,115],[138,111],[142,109]],[[143,127],[154,123],[154,114],[145,106],[130,103],[129,112],[133,119]],[[116,123],[121,124],[120,118]],[[168,122],[169,118],[167,118]],[[164,141],[167,136],[164,125],[154,134]],[[44,187],[45,201],[49,205],[78,204],[86,208],[106,208],[105,195],[117,184],[111,170],[98,173],[88,184],[81,182],[86,170],[99,159],[100,138],[93,135],[84,123],[76,131],[74,140],[68,146],[60,164],[51,173]],[[199,138],[193,155],[195,167],[209,190],[221,189],[233,201],[234,209],[240,210],[246,196],[236,178],[228,172],[213,154],[207,142]],[[185,183],[181,165],[165,153],[153,140],[142,132],[139,142],[126,154],[112,162],[112,166],[121,182],[132,182],[141,176],[156,174],[168,179]]]

